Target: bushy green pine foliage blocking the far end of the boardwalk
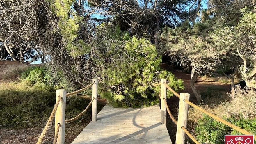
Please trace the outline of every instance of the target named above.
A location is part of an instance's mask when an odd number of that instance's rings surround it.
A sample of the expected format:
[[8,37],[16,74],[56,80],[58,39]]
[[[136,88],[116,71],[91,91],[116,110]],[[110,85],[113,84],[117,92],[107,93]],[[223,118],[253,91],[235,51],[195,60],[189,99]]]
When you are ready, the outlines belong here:
[[[97,69],[99,95],[118,107],[141,107],[156,104],[161,79],[174,90],[183,89],[183,81],[160,68],[162,62],[155,45],[145,38],[129,37],[118,26],[98,26],[97,43],[91,47],[97,55],[92,56],[93,68]],[[109,39],[106,39],[109,38]],[[107,49],[106,49],[107,48]],[[167,91],[167,97],[173,94]]]

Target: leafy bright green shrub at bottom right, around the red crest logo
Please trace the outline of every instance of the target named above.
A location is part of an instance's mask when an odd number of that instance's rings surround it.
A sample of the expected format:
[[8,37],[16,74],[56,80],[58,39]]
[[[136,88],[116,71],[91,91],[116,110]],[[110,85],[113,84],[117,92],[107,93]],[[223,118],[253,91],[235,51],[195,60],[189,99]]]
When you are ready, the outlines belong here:
[[[230,118],[224,119],[241,129],[256,134],[256,118],[250,119],[243,118],[242,116],[231,116]],[[203,117],[198,120],[198,124],[195,127],[196,139],[202,144],[222,144],[224,143],[225,134],[242,133],[233,130],[229,126],[218,122],[207,115],[203,115]]]

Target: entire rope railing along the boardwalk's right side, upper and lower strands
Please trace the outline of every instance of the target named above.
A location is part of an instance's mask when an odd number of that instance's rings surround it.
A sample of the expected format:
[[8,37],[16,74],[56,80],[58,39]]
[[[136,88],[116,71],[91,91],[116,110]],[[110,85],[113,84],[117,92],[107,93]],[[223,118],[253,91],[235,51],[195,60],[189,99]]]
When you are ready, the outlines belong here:
[[[172,88],[170,88],[166,83],[163,83],[163,84],[164,84],[164,86],[166,86],[166,88],[167,88],[168,90],[170,90],[175,96],[177,96],[178,98],[180,98],[180,95],[179,95],[178,93],[176,93]],[[197,106],[197,105],[193,104],[192,102],[190,102],[190,101],[187,100],[187,99],[183,99],[183,101],[184,101],[185,103],[189,104],[190,106],[194,107],[195,109],[198,109],[199,111],[201,111],[201,112],[205,113],[206,115],[210,116],[211,118],[214,118],[214,119],[217,120],[218,122],[221,122],[221,123],[223,123],[223,124],[225,124],[225,125],[227,125],[227,126],[233,128],[233,129],[236,130],[236,131],[239,131],[239,132],[241,132],[241,133],[243,133],[243,134],[245,134],[245,135],[253,135],[252,133],[250,133],[250,132],[248,132],[248,131],[246,131],[246,130],[244,130],[244,129],[241,129],[240,127],[237,127],[237,126],[231,124],[230,122],[227,122],[226,120],[224,120],[224,119],[222,119],[222,118],[219,118],[218,116],[216,116],[216,115],[214,115],[214,114],[212,114],[212,113],[206,111],[205,109],[201,108],[200,106]],[[165,102],[166,109],[167,109],[167,111],[168,111],[168,113],[169,113],[171,119],[173,120],[174,123],[177,122],[177,121],[173,118],[173,116],[170,114],[170,110],[169,110],[169,108],[168,108],[168,106],[167,106],[167,102],[166,102],[165,99],[164,99],[164,102]],[[190,134],[189,131],[187,131],[187,129],[186,129],[184,126],[182,126],[181,128],[182,128],[182,129],[184,130],[184,132],[189,136],[189,134]],[[190,134],[189,137],[190,137],[193,141],[195,140],[195,138],[194,138],[191,134]],[[255,136],[255,135],[254,135],[254,138],[256,139],[256,136]],[[197,144],[199,144],[196,140],[195,140],[194,142],[197,143]]]

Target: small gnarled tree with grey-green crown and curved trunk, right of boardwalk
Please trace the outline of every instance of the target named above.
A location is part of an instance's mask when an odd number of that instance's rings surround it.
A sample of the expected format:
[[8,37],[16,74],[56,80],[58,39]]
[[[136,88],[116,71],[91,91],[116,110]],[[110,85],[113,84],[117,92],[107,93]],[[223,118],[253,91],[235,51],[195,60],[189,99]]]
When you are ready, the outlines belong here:
[[187,21],[175,29],[165,28],[161,35],[163,54],[182,67],[192,69],[190,84],[198,102],[202,98],[194,85],[196,78],[220,62],[220,52],[208,37],[210,28],[209,20],[198,22],[193,28]]

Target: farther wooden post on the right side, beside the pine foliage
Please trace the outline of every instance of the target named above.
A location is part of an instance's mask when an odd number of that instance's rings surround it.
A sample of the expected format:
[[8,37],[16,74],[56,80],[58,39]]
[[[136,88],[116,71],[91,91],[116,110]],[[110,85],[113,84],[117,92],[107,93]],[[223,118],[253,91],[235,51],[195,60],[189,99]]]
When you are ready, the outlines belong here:
[[161,123],[166,124],[166,106],[164,99],[166,99],[166,79],[161,79]]

